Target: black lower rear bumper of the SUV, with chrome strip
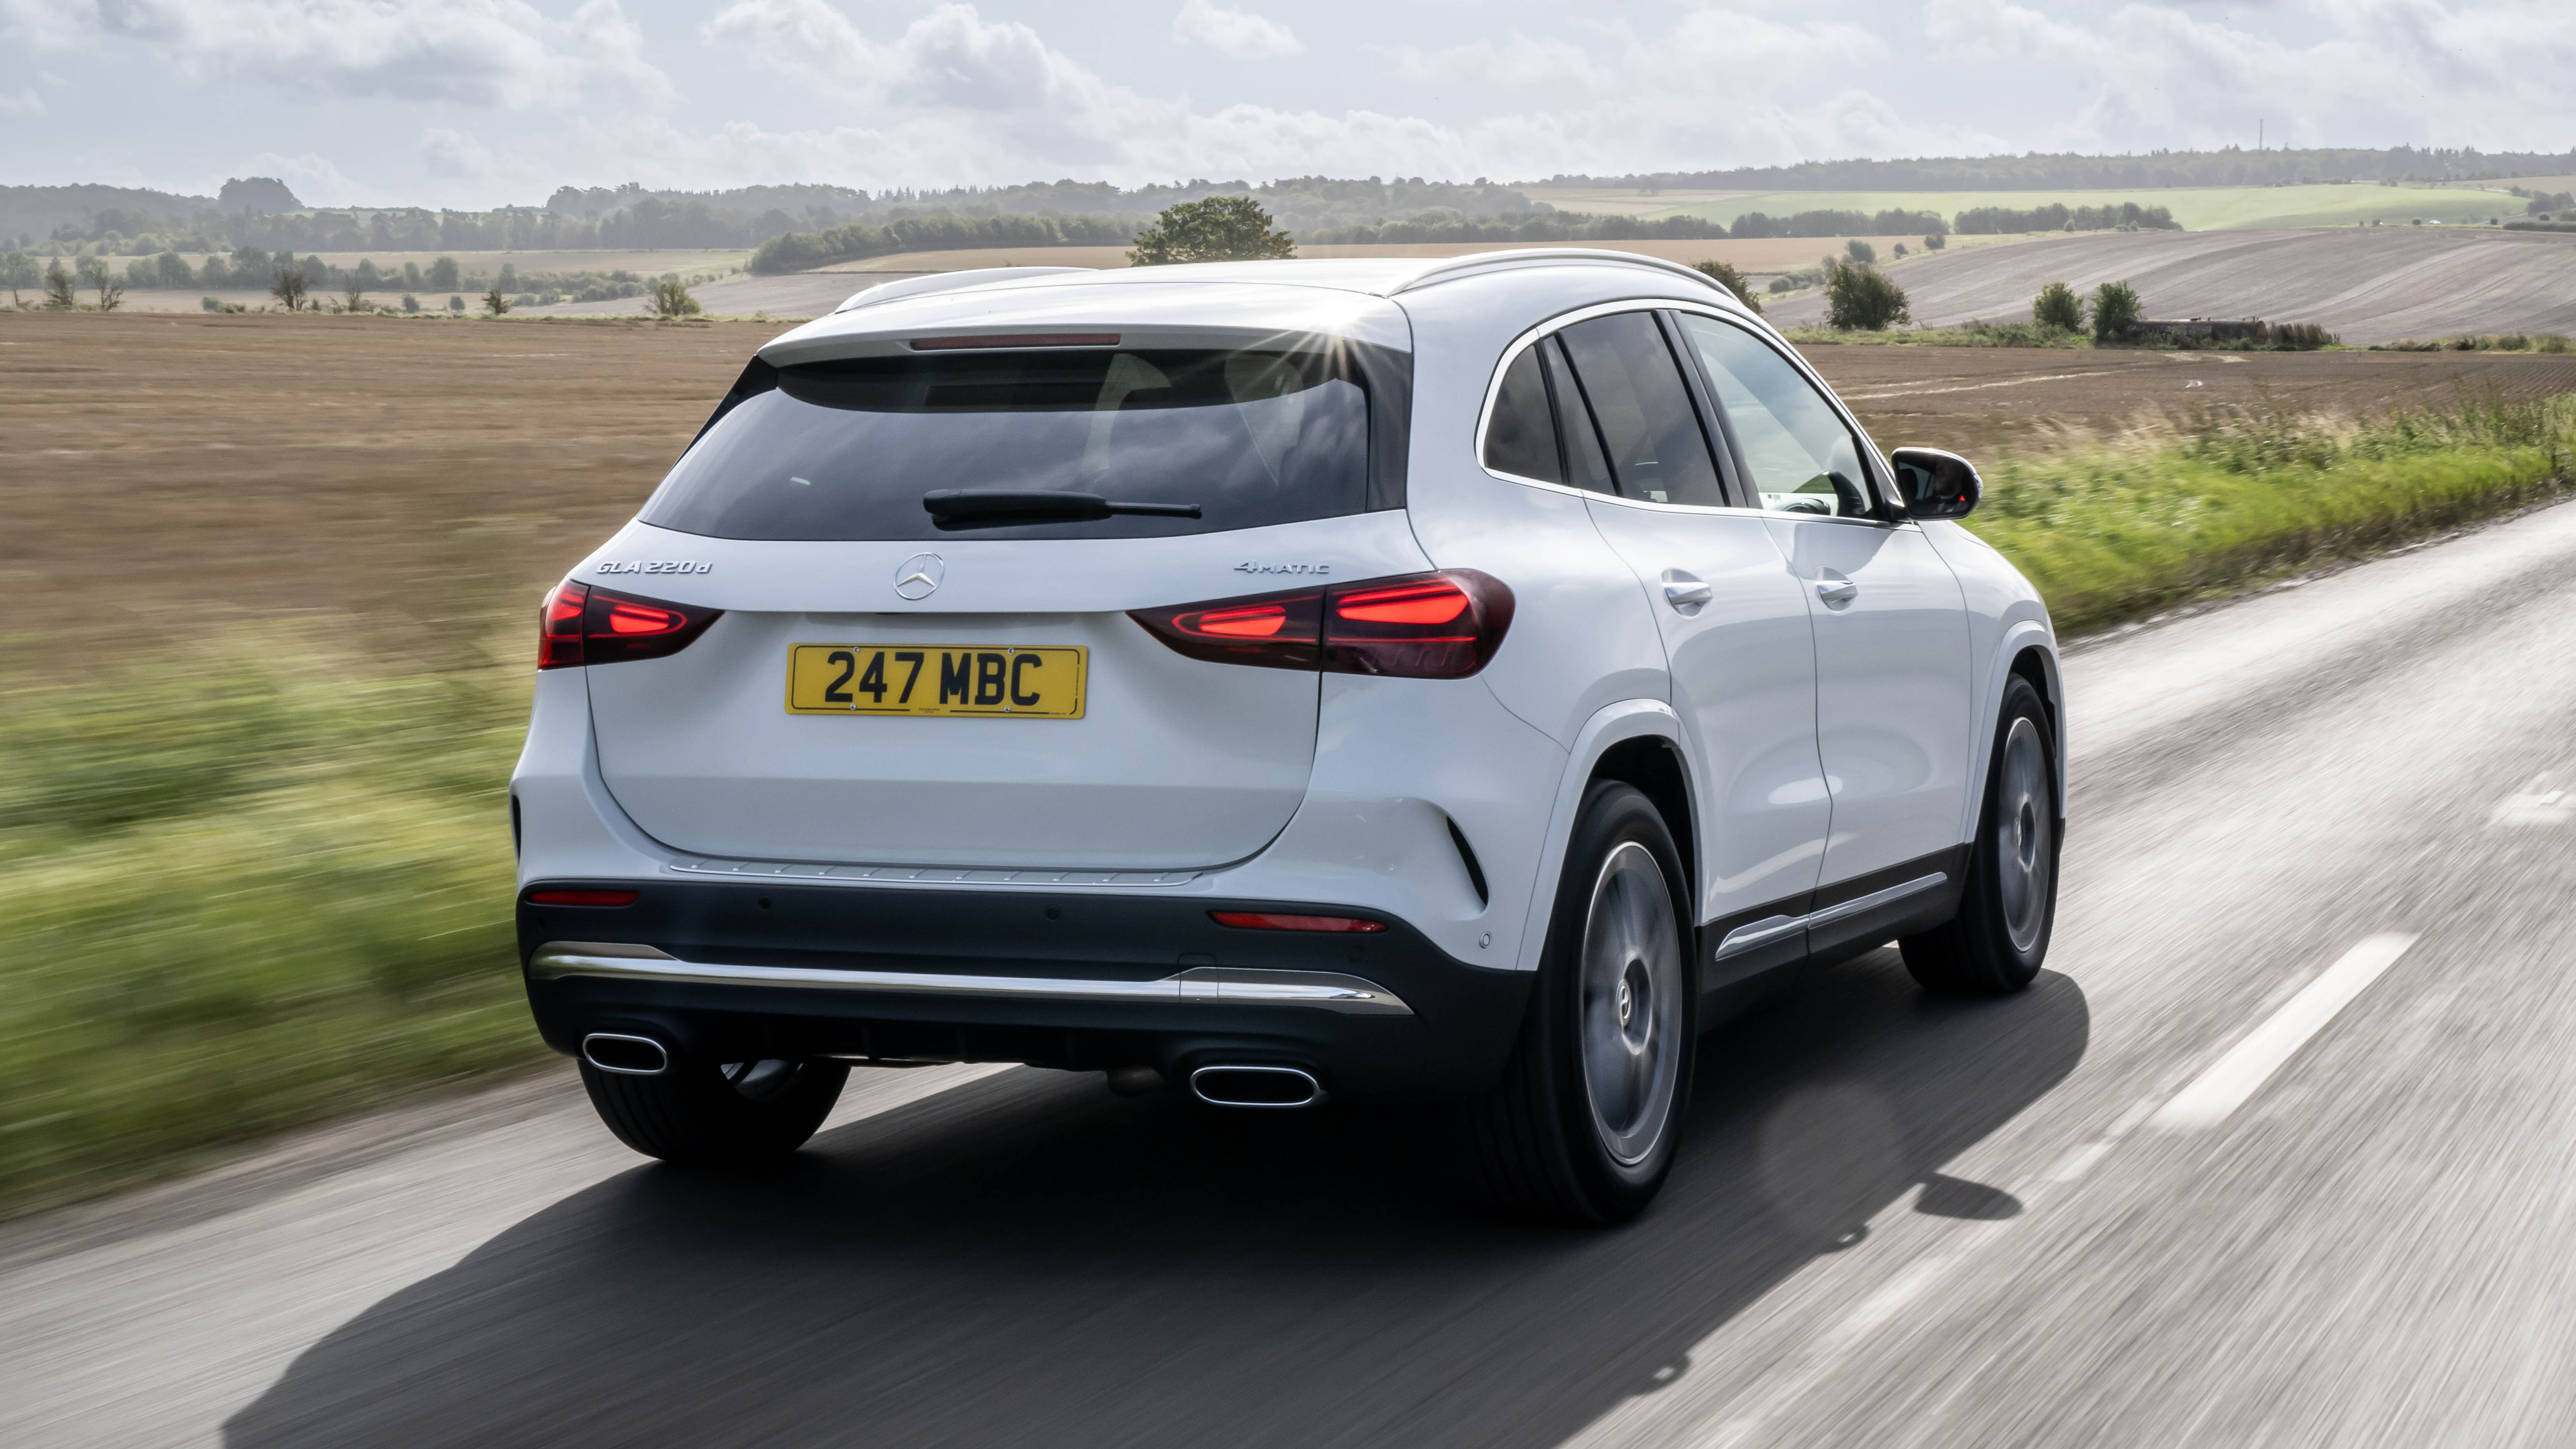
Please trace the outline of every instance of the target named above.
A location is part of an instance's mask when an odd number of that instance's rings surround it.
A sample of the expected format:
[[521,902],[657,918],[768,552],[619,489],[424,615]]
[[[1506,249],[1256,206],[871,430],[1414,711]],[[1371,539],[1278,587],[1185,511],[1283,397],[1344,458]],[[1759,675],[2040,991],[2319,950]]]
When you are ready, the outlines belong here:
[[[1528,972],[1440,951],[1381,910],[1092,892],[752,882],[531,882],[636,890],[623,908],[528,905],[538,1031],[649,1034],[683,1057],[1296,1065],[1334,1096],[1448,1098],[1502,1073]],[[1236,931],[1208,910],[1370,915],[1368,936]]]

